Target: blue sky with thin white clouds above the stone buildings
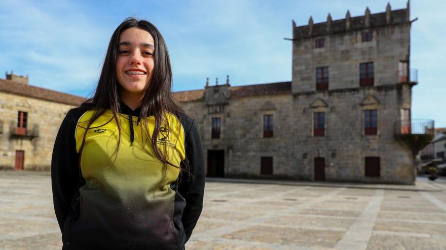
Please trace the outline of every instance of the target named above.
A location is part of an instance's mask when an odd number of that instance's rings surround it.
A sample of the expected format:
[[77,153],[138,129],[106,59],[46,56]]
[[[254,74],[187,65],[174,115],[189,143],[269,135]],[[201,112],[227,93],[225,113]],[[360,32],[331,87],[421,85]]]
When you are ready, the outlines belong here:
[[[317,3],[317,4],[315,4]],[[406,0],[390,1],[402,9]],[[106,46],[122,20],[154,23],[166,39],[174,91],[214,83],[248,85],[291,80],[291,20],[306,25],[384,12],[385,0],[225,1],[17,1],[0,2],[0,72],[29,75],[32,85],[88,95]],[[412,118],[446,127],[446,1],[413,0],[411,68],[418,69]],[[1,76],[0,76],[1,77]],[[4,78],[4,76],[2,77]]]

